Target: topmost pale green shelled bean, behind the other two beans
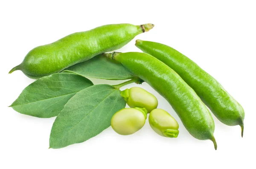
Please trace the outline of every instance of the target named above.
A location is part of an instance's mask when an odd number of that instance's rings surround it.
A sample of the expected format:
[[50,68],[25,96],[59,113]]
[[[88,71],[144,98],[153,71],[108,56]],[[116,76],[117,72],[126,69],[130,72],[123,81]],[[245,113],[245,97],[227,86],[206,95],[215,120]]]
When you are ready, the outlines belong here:
[[130,107],[143,107],[148,113],[156,109],[158,105],[157,98],[140,87],[131,87],[121,92],[121,96],[125,99]]

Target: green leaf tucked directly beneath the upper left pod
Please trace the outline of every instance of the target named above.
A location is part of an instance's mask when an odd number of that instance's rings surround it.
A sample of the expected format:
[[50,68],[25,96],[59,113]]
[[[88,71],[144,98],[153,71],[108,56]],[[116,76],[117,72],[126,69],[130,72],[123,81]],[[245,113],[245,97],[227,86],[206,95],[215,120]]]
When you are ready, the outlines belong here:
[[132,79],[134,75],[119,62],[108,59],[103,55],[98,55],[85,62],[73,65],[63,72],[76,73],[84,77],[125,80]]

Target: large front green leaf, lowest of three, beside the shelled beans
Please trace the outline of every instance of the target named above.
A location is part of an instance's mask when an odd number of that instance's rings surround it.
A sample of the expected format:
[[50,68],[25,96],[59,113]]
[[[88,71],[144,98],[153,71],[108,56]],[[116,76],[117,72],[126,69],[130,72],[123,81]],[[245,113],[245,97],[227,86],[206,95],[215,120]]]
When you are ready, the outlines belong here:
[[81,143],[108,128],[114,113],[125,107],[120,90],[93,85],[78,92],[65,105],[52,125],[49,145],[58,149]]

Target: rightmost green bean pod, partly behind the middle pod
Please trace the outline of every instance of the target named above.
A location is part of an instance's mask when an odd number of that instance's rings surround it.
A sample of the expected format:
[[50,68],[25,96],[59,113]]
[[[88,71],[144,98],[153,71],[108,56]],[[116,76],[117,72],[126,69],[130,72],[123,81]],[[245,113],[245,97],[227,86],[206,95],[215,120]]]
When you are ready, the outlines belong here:
[[136,46],[175,70],[222,123],[229,126],[240,125],[243,137],[244,109],[216,79],[188,57],[167,45],[137,40]]

